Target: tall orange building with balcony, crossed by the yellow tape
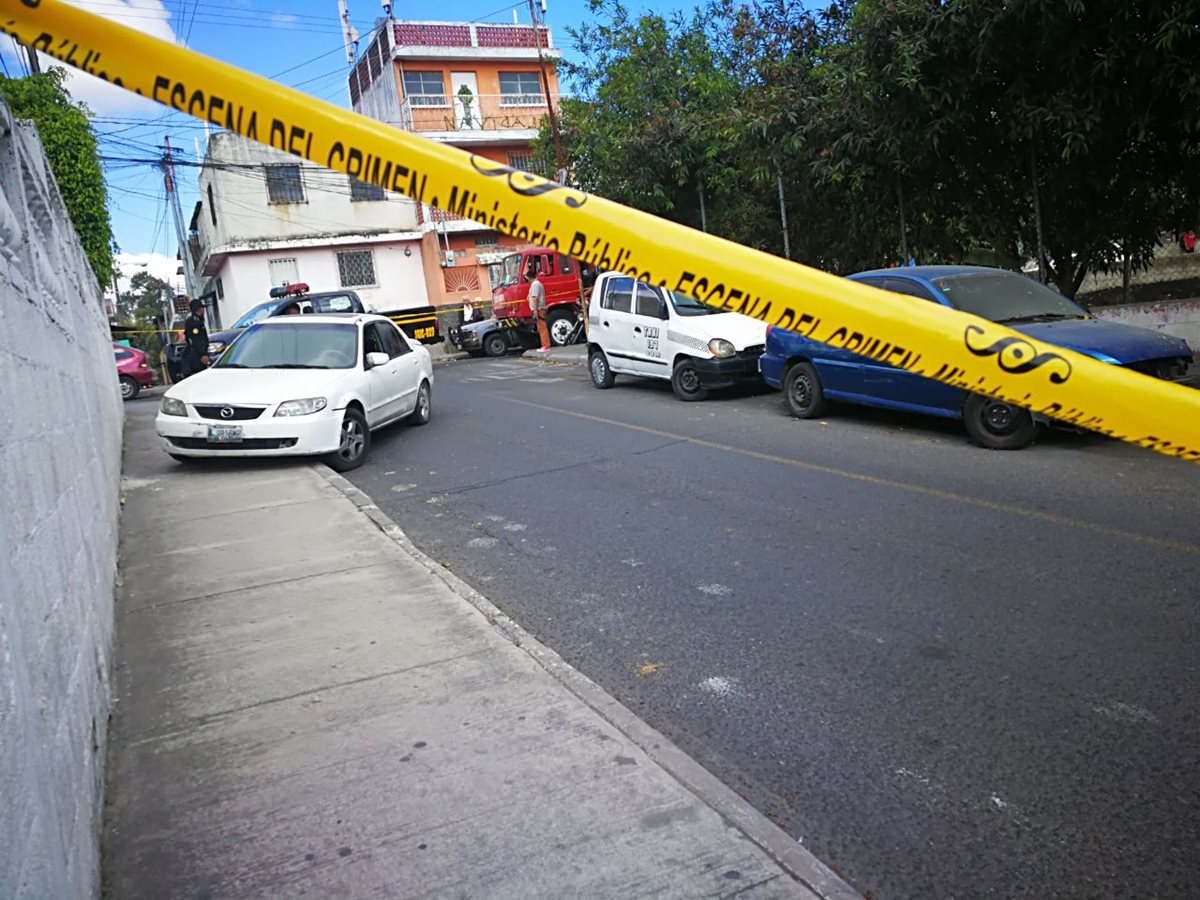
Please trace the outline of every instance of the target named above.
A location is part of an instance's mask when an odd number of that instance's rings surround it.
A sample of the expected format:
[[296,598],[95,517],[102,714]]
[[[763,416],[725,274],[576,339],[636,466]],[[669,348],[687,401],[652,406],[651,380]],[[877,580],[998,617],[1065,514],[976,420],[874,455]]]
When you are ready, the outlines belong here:
[[[388,22],[350,72],[350,103],[372,119],[528,169],[547,84],[558,108],[560,56],[545,26]],[[490,268],[521,244],[428,205],[418,222],[430,302],[490,300]]]

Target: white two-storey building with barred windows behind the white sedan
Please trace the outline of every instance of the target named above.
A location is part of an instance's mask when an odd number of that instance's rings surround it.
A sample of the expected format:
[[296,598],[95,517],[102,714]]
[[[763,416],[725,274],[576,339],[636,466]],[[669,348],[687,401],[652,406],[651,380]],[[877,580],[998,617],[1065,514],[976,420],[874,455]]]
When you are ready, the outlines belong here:
[[209,138],[199,187],[191,254],[215,325],[296,282],[379,312],[428,306],[412,200],[232,132]]

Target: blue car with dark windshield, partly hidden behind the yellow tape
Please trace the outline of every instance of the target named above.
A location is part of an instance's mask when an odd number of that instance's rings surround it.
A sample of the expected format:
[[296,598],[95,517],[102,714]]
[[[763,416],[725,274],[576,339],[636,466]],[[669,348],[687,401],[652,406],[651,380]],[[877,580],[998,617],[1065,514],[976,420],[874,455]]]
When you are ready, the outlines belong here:
[[[1178,380],[1192,362],[1187,342],[1158,331],[1093,319],[1087,310],[1018,272],[967,265],[919,265],[851,275],[851,280],[941,304],[1008,325],[1038,341],[1104,362]],[[814,419],[828,401],[961,419],[980,446],[1015,450],[1048,424],[1026,409],[817,343],[794,331],[772,329],[761,358],[767,384],[784,391],[792,415]]]

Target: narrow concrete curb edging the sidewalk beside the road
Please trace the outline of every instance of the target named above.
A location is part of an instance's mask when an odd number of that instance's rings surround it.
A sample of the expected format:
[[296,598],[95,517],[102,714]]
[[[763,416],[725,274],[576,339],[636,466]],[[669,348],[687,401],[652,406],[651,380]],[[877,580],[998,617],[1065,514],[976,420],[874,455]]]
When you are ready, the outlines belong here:
[[457,596],[474,606],[482,613],[488,624],[494,626],[515,647],[520,647],[529,654],[556,680],[637,744],[667,774],[764,851],[793,878],[823,900],[862,900],[862,895],[856,893],[829,866],[787,836],[786,832],[758,812],[736,791],[622,706],[600,685],[568,664],[554,650],[521,628],[491,600],[452,571],[422,553],[401,527],[348,479],[338,475],[328,466],[314,464],[312,468],[325,481],[346,494],[347,499],[358,506],[359,511],[370,518],[380,532],[391,538],[401,550],[444,582]]

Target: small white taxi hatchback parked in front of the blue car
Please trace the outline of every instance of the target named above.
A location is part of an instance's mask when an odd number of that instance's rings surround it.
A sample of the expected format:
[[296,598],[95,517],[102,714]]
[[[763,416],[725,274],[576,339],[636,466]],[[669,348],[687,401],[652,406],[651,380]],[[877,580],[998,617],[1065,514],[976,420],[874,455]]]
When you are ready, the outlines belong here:
[[736,312],[605,272],[588,307],[588,372],[596,388],[618,374],[662,378],[679,400],[758,379],[767,325]]

